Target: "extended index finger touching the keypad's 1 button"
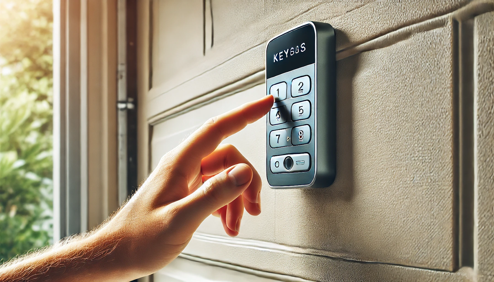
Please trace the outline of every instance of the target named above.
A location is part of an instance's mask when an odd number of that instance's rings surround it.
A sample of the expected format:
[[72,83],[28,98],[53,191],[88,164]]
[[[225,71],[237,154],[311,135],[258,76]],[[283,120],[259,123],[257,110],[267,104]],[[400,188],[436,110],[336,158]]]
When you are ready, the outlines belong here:
[[200,167],[201,160],[212,153],[223,139],[262,118],[273,103],[274,97],[267,95],[206,121],[180,145],[182,167],[195,166],[191,164]]

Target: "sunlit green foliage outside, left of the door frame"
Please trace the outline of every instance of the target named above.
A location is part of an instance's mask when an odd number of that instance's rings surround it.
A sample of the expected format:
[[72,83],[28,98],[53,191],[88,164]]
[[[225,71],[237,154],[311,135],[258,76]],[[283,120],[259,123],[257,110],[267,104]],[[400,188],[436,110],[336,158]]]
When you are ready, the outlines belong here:
[[0,1],[0,261],[52,241],[52,3]]

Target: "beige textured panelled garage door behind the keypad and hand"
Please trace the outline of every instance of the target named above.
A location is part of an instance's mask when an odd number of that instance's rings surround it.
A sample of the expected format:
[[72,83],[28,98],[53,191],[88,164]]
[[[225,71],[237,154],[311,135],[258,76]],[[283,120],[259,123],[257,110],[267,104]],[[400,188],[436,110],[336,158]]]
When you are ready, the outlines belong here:
[[[323,21],[336,29],[337,47],[334,184],[271,190],[264,177],[262,213],[245,215],[237,238],[207,218],[185,259],[155,281],[187,260],[287,281],[492,281],[493,2],[290,1],[286,9],[281,1],[206,0],[210,26],[202,1],[148,3],[139,10],[140,178],[211,116],[265,95],[264,47],[272,36]],[[459,48],[463,41],[472,48]],[[474,116],[460,110],[468,99]],[[265,130],[261,120],[225,140],[261,176]],[[468,138],[473,156],[460,145]]]

